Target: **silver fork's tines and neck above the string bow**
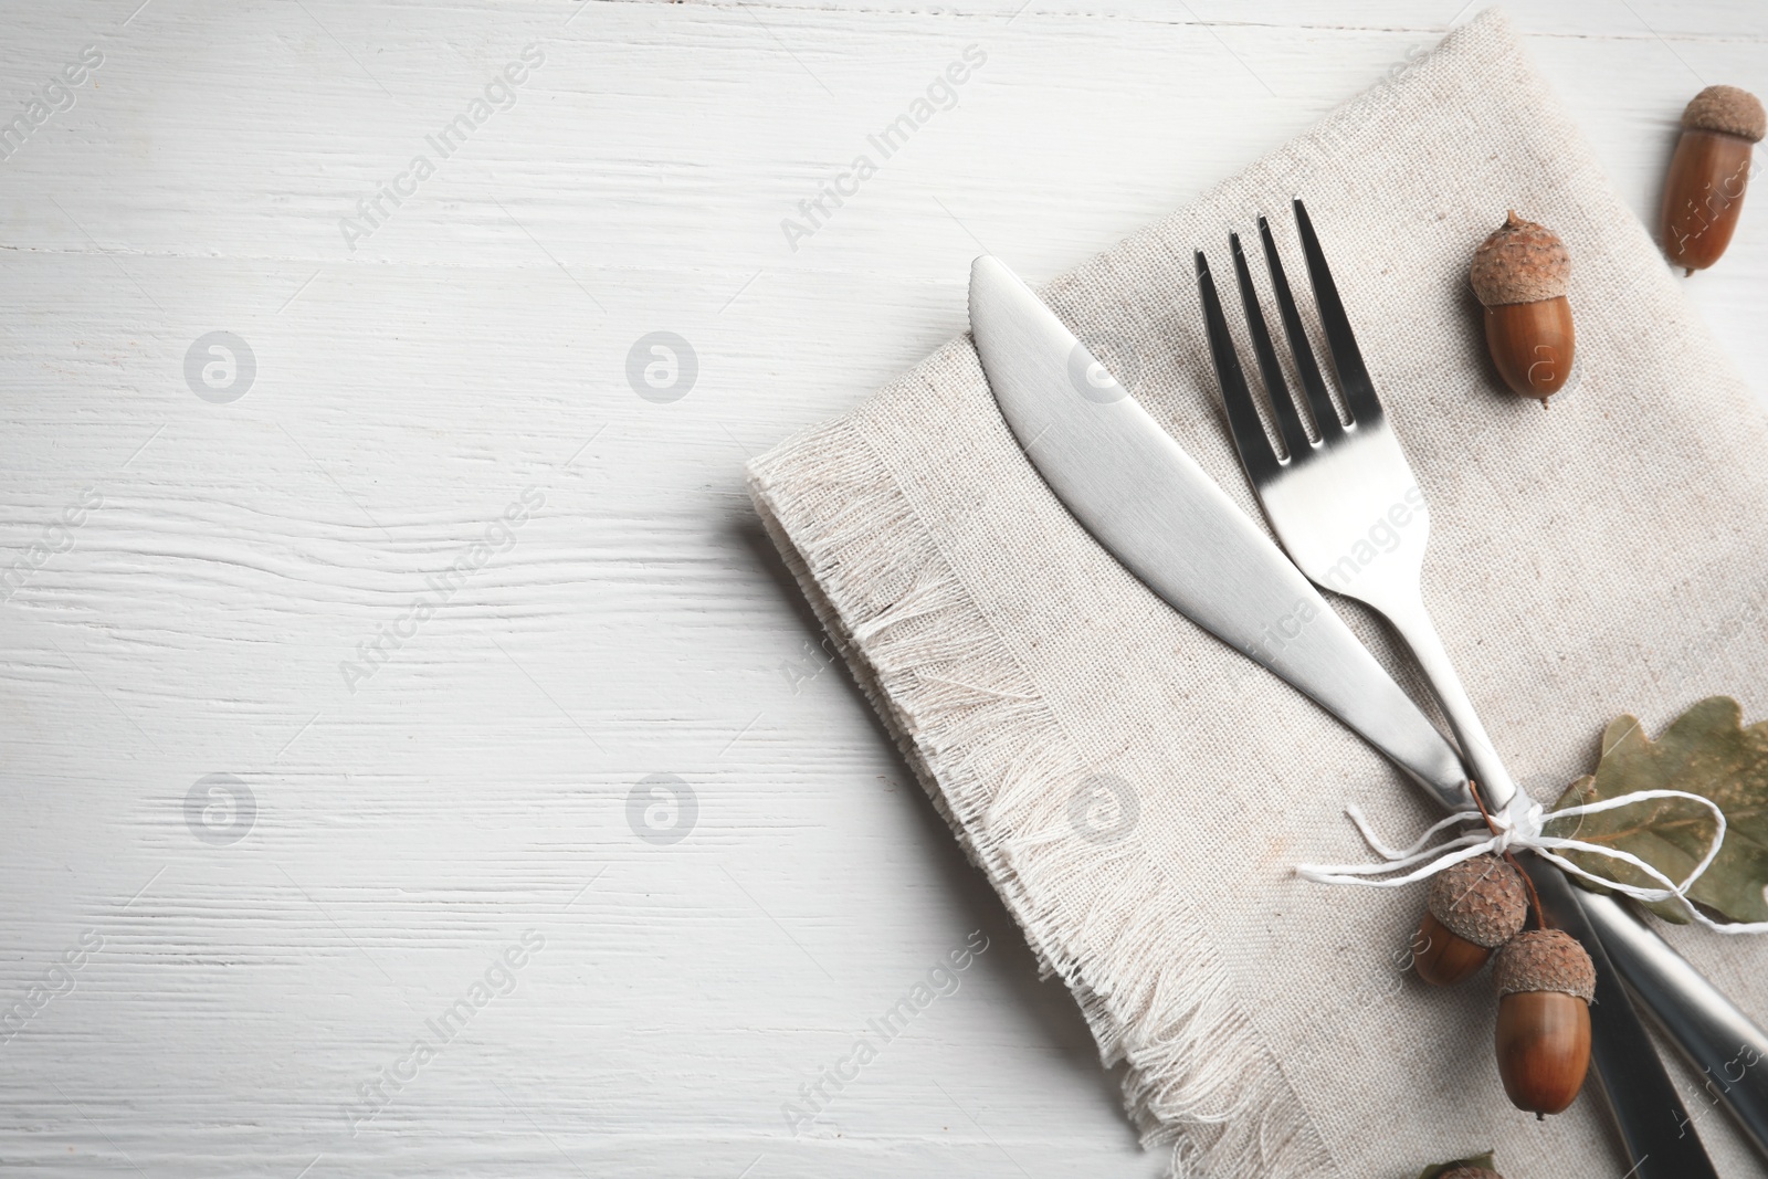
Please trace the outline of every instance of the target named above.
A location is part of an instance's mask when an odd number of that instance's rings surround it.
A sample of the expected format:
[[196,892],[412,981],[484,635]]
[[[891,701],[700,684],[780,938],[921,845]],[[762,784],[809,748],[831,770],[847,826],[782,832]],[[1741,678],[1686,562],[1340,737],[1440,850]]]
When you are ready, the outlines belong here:
[[1284,263],[1276,255],[1276,242],[1271,240],[1271,226],[1259,217],[1271,290],[1276,295],[1315,433],[1308,435],[1296,399],[1289,392],[1276,348],[1271,345],[1271,332],[1259,309],[1259,293],[1246,269],[1246,255],[1241,251],[1239,235],[1234,233],[1229,239],[1234,274],[1239,279],[1246,329],[1252,334],[1259,371],[1264,375],[1264,387],[1271,396],[1284,453],[1271,445],[1264,431],[1227,331],[1227,318],[1222,315],[1209,262],[1197,251],[1197,286],[1209,327],[1209,352],[1222,384],[1234,445],[1289,559],[1314,583],[1374,606],[1411,647],[1443,704],[1487,808],[1494,815],[1501,813],[1517,795],[1517,787],[1492,749],[1473,700],[1460,686],[1443,638],[1425,610],[1423,559],[1430,539],[1429,506],[1398,438],[1388,428],[1307,209],[1299,200],[1294,205],[1308,278],[1351,421],[1338,419],[1338,410],[1326,392],[1294,295],[1289,292],[1289,279],[1284,276]]

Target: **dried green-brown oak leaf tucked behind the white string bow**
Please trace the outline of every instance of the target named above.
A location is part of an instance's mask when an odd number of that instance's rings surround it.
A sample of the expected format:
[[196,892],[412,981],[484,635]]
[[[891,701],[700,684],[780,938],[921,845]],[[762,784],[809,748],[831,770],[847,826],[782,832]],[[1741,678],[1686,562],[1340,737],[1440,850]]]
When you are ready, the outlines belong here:
[[[1648,741],[1635,718],[1618,716],[1602,732],[1597,772],[1574,781],[1554,810],[1635,790],[1687,790],[1717,802],[1726,813],[1726,845],[1688,896],[1720,917],[1768,921],[1763,894],[1768,886],[1768,721],[1745,728],[1736,700],[1708,696],[1671,721],[1657,741]],[[1713,813],[1697,802],[1653,799],[1598,815],[1549,817],[1545,834],[1632,852],[1671,880],[1681,880],[1706,856],[1715,827]],[[1589,852],[1561,854],[1598,877],[1662,887],[1628,863]],[[1687,909],[1674,900],[1648,907],[1665,921],[1688,921]]]

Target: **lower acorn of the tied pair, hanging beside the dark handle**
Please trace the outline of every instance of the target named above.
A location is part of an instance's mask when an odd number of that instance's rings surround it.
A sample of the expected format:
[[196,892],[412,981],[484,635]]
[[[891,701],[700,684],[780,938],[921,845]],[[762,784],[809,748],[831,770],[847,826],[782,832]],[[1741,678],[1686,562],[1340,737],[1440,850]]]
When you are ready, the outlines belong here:
[[1497,1075],[1535,1117],[1559,1114],[1589,1069],[1597,967],[1565,930],[1529,930],[1497,951]]

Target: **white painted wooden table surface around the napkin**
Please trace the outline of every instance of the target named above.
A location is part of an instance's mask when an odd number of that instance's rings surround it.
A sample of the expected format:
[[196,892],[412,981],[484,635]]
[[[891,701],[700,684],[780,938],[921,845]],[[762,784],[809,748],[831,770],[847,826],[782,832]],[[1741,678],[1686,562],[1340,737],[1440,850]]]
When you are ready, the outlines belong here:
[[[1457,5],[7,5],[0,1170],[1162,1174],[741,465]],[[1757,0],[1513,16],[1642,216],[1768,94]],[[1768,209],[1690,290],[1768,391]]]

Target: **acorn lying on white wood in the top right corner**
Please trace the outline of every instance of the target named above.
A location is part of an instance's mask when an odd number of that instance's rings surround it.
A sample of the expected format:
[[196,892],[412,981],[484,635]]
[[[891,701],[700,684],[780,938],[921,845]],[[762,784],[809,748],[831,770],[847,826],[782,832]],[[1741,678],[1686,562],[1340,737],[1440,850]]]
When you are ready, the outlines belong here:
[[1681,113],[1681,138],[1664,182],[1664,253],[1694,274],[1731,244],[1750,184],[1750,150],[1768,131],[1761,99],[1708,87]]

